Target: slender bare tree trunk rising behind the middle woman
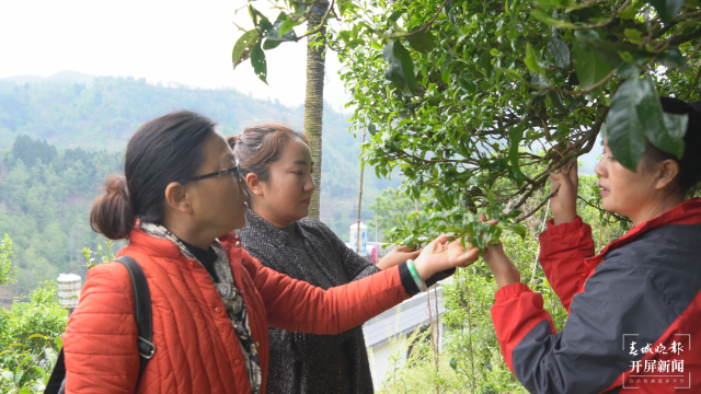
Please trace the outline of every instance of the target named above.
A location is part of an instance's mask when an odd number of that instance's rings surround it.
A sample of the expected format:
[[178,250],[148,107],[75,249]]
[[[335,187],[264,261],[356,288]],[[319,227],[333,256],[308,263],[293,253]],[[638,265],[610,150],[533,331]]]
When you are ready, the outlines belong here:
[[[307,30],[311,31],[319,26],[321,19],[329,9],[329,1],[317,1],[312,5],[309,15]],[[325,34],[326,28],[322,28],[321,34]],[[319,219],[321,201],[321,129],[324,113],[324,55],[326,46],[312,48],[311,44],[320,38],[311,35],[307,38],[307,97],[304,100],[304,135],[309,140],[311,158],[314,161],[314,185],[317,190],[311,197],[309,206],[309,217]]]

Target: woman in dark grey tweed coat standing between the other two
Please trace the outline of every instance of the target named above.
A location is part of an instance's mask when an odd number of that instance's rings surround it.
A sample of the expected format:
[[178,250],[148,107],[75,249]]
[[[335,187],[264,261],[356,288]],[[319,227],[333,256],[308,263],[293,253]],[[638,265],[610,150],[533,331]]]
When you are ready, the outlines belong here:
[[[237,234],[264,266],[329,289],[418,256],[401,246],[375,265],[348,248],[324,223],[307,218],[314,193],[314,163],[303,134],[265,124],[249,127],[228,141],[251,196],[245,225]],[[427,286],[451,273],[439,273]],[[279,327],[268,333],[268,393],[374,392],[361,327],[337,335]]]

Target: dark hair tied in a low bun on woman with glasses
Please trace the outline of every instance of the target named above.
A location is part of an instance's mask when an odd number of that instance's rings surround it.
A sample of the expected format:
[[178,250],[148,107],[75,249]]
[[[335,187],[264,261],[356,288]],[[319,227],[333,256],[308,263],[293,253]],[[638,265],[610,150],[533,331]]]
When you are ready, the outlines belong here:
[[129,139],[125,175],[110,175],[104,195],[90,211],[90,225],[111,240],[128,236],[136,220],[162,224],[165,187],[185,184],[205,158],[205,142],[216,124],[199,114],[179,111],[149,120]]

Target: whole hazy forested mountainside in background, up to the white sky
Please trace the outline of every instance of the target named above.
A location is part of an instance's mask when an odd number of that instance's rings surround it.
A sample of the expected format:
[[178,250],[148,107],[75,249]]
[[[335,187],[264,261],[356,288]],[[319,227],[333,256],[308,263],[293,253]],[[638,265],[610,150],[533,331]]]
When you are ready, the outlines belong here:
[[[143,121],[174,109],[214,118],[223,135],[246,126],[281,121],[301,130],[303,107],[254,100],[233,90],[151,85],[131,78],[0,80],[0,233],[14,241],[18,290],[59,273],[84,275],[81,250],[103,240],[90,230],[88,212],[104,177],[123,171],[123,150]],[[346,116],[324,109],[322,220],[347,237],[357,215],[360,141]],[[398,182],[366,169],[366,207]]]

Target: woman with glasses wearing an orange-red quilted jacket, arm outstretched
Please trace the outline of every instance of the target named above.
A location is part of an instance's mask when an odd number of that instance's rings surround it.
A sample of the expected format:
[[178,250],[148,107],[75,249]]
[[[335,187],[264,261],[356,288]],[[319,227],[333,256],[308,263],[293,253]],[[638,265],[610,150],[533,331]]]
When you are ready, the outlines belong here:
[[148,121],[129,140],[125,176],[95,200],[93,229],[128,239],[119,255],[146,274],[156,354],[139,380],[129,275],[94,267],[64,336],[67,393],[264,393],[268,324],[337,334],[476,256],[441,236],[415,262],[326,291],[266,268],[233,233],[248,197],[214,127],[189,112]]

